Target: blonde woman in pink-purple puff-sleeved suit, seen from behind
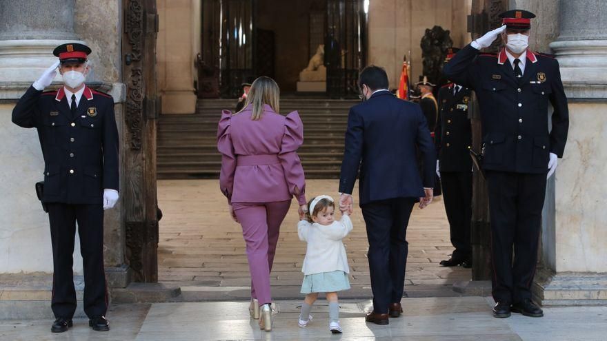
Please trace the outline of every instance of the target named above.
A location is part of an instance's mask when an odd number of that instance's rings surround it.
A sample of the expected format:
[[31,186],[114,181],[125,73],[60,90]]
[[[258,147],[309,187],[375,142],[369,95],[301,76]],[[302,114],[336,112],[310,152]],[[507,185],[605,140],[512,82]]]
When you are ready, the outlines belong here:
[[292,196],[304,216],[306,183],[297,148],[304,127],[297,112],[278,114],[280,90],[268,77],[256,79],[240,112],[224,110],[217,130],[221,152],[219,186],[232,219],[242,225],[251,273],[252,318],[272,329],[270,270],[282,220]]

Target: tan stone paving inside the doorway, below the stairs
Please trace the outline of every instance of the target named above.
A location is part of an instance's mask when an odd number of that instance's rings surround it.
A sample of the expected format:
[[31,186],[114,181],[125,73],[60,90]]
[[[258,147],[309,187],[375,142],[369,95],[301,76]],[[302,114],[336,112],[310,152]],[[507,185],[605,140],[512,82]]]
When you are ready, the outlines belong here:
[[[337,198],[338,180],[308,180],[306,193],[329,194]],[[357,198],[357,188],[355,188]],[[159,280],[180,286],[182,291],[201,299],[244,298],[250,285],[248,262],[241,227],[228,215],[226,198],[219,192],[218,180],[159,180]],[[357,206],[357,205],[355,205]],[[370,276],[366,253],[368,242],[359,207],[351,216],[354,229],[344,244],[350,263],[350,298],[367,298]],[[306,244],[297,238],[295,200],[281,227],[275,265],[272,269],[272,293],[276,298],[299,298],[301,262]],[[426,209],[412,212],[407,230],[409,254],[406,286],[446,289],[454,282],[470,280],[470,269],[440,267],[452,252],[444,203],[437,198]],[[231,291],[231,295],[221,296]],[[344,297],[346,297],[344,296]]]

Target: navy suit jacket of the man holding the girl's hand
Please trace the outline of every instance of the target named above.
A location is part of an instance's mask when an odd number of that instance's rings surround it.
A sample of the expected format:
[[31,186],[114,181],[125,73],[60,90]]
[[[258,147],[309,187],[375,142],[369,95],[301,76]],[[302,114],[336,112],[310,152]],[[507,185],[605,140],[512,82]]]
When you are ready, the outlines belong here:
[[[423,156],[423,176],[417,167],[416,149]],[[435,167],[434,143],[418,104],[382,91],[350,108],[339,192],[352,194],[360,169],[360,205],[390,198],[420,198],[424,187],[435,185]]]

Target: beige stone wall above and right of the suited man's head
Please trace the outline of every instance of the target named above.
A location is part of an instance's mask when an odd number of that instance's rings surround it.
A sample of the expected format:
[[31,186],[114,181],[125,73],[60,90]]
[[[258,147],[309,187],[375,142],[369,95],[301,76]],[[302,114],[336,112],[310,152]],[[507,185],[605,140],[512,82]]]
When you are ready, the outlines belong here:
[[422,71],[419,43],[426,28],[450,30],[453,46],[461,48],[470,42],[466,16],[471,6],[472,0],[370,1],[369,63],[386,68],[390,87],[397,87],[403,56],[410,51],[410,79],[417,82]]

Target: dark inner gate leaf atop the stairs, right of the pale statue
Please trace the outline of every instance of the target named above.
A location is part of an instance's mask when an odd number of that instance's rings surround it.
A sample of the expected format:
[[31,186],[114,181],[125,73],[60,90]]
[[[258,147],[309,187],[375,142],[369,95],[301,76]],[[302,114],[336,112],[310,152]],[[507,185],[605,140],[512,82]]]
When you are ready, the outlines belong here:
[[355,97],[359,71],[366,66],[367,13],[363,0],[327,0],[325,66],[327,94]]

